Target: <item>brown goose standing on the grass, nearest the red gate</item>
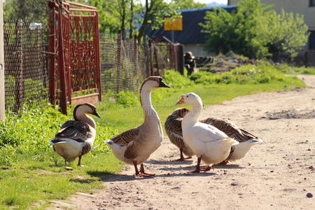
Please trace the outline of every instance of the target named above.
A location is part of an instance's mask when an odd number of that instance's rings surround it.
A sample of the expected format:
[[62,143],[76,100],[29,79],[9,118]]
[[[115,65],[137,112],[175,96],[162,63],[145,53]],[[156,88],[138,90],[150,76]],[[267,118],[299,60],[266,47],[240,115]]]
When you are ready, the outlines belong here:
[[96,123],[90,116],[92,114],[100,118],[95,106],[92,104],[79,104],[73,110],[74,120],[68,120],[50,140],[54,151],[64,158],[64,162],[72,162],[78,158],[78,166],[81,165],[82,155],[88,153],[94,143]]

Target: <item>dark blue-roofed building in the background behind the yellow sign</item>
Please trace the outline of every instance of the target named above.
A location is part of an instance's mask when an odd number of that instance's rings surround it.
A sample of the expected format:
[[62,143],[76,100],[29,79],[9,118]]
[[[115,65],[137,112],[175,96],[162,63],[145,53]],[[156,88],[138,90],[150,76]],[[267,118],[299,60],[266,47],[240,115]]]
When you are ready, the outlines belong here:
[[[236,6],[223,6],[225,10],[231,12],[235,10]],[[173,43],[181,43],[184,47],[184,52],[193,52],[193,55],[197,57],[205,57],[211,55],[210,52],[204,49],[203,43],[206,41],[207,34],[202,33],[202,27],[200,22],[204,22],[204,16],[207,11],[213,11],[213,8],[196,8],[179,10],[182,15],[182,29],[167,31],[165,27],[161,27],[157,30],[152,30],[148,27],[146,30],[146,35],[148,35],[153,40],[165,40],[167,38]]]

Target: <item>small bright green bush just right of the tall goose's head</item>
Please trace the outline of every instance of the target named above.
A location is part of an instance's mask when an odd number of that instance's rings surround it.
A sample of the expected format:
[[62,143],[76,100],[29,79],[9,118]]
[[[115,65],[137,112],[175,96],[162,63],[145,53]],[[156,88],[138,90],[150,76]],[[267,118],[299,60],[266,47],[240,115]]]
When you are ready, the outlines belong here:
[[173,88],[182,88],[193,84],[189,78],[181,75],[178,71],[166,70],[163,78],[165,83]]

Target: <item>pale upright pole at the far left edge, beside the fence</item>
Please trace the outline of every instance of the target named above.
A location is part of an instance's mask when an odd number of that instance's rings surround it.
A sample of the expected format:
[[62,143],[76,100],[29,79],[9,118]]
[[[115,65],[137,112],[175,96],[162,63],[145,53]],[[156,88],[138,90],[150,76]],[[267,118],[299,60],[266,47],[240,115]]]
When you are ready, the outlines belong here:
[[0,121],[6,118],[4,93],[3,3],[0,0]]

